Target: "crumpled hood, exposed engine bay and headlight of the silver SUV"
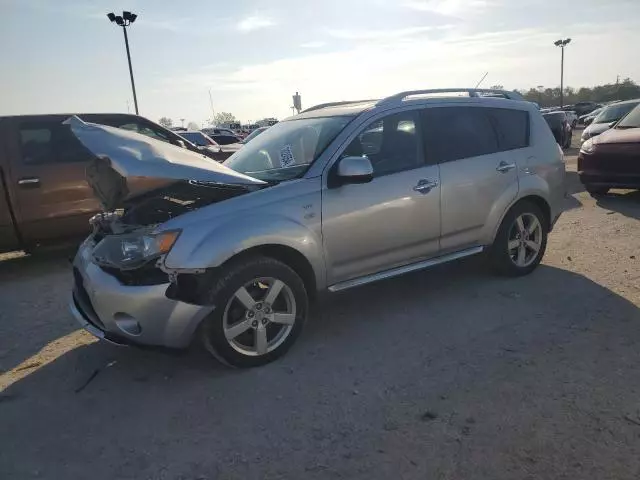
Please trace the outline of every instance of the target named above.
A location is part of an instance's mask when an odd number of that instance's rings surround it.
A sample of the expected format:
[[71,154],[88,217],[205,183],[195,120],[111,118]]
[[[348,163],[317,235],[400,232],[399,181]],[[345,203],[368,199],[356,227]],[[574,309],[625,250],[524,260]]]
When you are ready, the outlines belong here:
[[267,184],[191,151],[134,132],[66,122],[96,158],[87,182],[104,209],[91,220],[85,242],[93,263],[123,285],[176,281],[163,257],[179,230],[163,230],[172,218],[263,188]]

